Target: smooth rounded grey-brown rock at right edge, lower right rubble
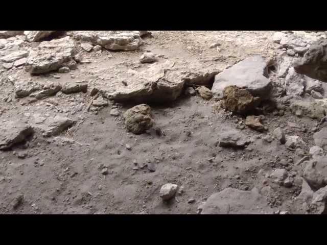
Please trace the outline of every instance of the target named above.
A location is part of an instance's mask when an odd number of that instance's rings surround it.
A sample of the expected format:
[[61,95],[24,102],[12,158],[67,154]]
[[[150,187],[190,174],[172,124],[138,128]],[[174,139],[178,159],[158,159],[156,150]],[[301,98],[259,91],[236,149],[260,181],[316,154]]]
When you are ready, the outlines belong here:
[[303,170],[303,178],[308,184],[314,189],[327,185],[327,159],[319,157],[305,163],[306,167]]

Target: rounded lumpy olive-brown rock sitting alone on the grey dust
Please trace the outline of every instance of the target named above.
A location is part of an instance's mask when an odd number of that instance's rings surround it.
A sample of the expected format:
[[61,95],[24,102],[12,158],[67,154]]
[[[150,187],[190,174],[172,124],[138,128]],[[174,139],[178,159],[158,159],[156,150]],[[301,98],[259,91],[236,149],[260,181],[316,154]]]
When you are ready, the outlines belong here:
[[133,134],[142,134],[153,126],[151,108],[141,104],[128,109],[125,114],[125,125]]

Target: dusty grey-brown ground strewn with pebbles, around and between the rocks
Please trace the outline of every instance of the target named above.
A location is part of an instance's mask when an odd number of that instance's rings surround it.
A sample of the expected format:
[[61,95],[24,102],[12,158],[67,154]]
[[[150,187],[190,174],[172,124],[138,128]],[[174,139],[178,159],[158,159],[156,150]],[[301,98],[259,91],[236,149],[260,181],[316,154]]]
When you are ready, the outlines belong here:
[[[159,62],[169,59],[227,66],[253,54],[269,59],[274,54],[272,33],[153,31],[139,51],[103,51],[99,56],[83,52],[91,63],[79,65],[70,74],[57,74],[60,79],[52,77],[56,72],[36,79],[60,82],[101,78],[113,66],[137,67],[139,57],[146,50],[161,55]],[[221,45],[209,48],[215,42]],[[20,69],[11,72],[26,76]],[[2,87],[0,96],[8,97],[12,91],[12,87]],[[250,190],[265,186],[262,173],[281,166],[277,156],[279,159],[290,157],[293,162],[300,159],[275,140],[271,143],[263,140],[266,133],[262,135],[247,127],[242,131],[244,134],[258,136],[247,149],[220,148],[217,145],[220,133],[238,128],[242,117],[215,111],[213,101],[204,101],[199,96],[182,95],[176,102],[149,104],[161,136],[154,129],[142,135],[126,132],[122,115],[133,104],[118,104],[120,116],[114,117],[110,115],[112,103],[99,112],[88,112],[89,93],[58,94],[22,105],[26,100],[13,99],[10,103],[1,100],[0,120],[29,118],[38,113],[65,115],[77,119],[78,123],[60,137],[34,135],[11,151],[0,151],[0,213],[196,214],[206,198],[226,187]],[[265,117],[268,132],[292,121],[300,125],[300,129],[288,128],[287,133],[301,136],[308,147],[313,145],[310,129],[314,120],[288,112],[284,116]],[[63,137],[74,141],[63,142]],[[126,144],[131,150],[126,149]],[[27,153],[27,157],[20,159],[18,153]],[[215,159],[208,161],[212,157]],[[146,167],[133,170],[135,161],[138,166],[154,163],[156,170],[153,173]],[[103,166],[108,168],[108,175],[101,173]],[[294,164],[286,168],[297,171]],[[165,183],[176,183],[183,189],[169,204],[162,202],[158,194]],[[267,195],[267,200],[274,210],[299,212],[293,205],[301,186],[301,182],[296,183],[286,188],[268,181],[266,185],[269,184],[274,193]],[[19,194],[24,194],[24,202],[13,209],[12,202]],[[189,204],[192,198],[195,202]]]

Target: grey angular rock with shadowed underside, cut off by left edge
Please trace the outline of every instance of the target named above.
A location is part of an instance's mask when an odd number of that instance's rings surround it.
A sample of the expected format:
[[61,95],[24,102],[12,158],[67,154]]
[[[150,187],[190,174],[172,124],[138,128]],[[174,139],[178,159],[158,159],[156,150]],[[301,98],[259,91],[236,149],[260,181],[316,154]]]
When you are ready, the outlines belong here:
[[0,150],[11,148],[33,133],[33,128],[21,120],[2,122],[0,125]]

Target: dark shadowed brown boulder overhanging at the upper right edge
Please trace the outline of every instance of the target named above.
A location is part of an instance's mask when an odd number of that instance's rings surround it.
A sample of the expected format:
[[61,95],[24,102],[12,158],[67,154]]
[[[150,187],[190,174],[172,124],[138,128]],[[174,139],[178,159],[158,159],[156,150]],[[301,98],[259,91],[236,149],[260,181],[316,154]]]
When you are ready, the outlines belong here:
[[293,65],[297,73],[327,82],[327,40],[313,43],[305,55],[295,60]]

